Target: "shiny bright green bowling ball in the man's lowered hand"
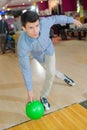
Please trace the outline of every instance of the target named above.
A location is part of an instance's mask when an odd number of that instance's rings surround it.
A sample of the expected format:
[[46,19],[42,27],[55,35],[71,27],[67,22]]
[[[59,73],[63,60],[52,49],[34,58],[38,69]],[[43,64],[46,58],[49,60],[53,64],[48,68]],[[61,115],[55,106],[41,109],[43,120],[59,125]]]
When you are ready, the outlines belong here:
[[28,102],[26,104],[26,115],[31,120],[40,119],[44,114],[44,106],[38,100],[33,100],[32,102]]

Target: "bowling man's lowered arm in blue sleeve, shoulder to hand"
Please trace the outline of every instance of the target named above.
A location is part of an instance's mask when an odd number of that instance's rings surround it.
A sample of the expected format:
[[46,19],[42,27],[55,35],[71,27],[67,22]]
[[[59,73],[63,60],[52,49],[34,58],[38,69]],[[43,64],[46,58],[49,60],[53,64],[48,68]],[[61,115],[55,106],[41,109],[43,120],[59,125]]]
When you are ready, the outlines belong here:
[[22,71],[24,83],[28,91],[28,100],[32,100],[33,91],[32,91],[32,71],[31,71],[30,59],[29,59],[30,50],[26,44],[24,36],[25,36],[24,33],[22,33],[18,40],[18,44],[17,44],[18,60]]

